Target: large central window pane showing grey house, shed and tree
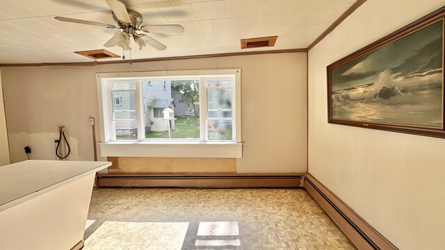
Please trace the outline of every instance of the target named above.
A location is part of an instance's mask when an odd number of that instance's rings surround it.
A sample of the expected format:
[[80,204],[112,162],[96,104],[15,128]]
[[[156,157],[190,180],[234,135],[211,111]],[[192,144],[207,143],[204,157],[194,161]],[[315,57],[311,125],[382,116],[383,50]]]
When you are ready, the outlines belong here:
[[[196,80],[143,82],[145,138],[200,138],[200,83]],[[172,118],[164,112],[172,110]]]

